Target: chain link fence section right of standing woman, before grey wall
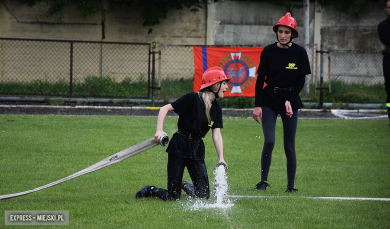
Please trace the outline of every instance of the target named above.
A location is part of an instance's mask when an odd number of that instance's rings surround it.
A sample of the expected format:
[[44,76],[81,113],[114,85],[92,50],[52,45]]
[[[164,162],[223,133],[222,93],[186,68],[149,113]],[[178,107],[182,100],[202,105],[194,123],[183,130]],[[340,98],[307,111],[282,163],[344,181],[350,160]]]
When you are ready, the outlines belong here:
[[[384,103],[384,77],[380,51],[328,50],[317,53],[316,87],[322,75],[324,101]],[[322,72],[321,72],[322,65]]]

